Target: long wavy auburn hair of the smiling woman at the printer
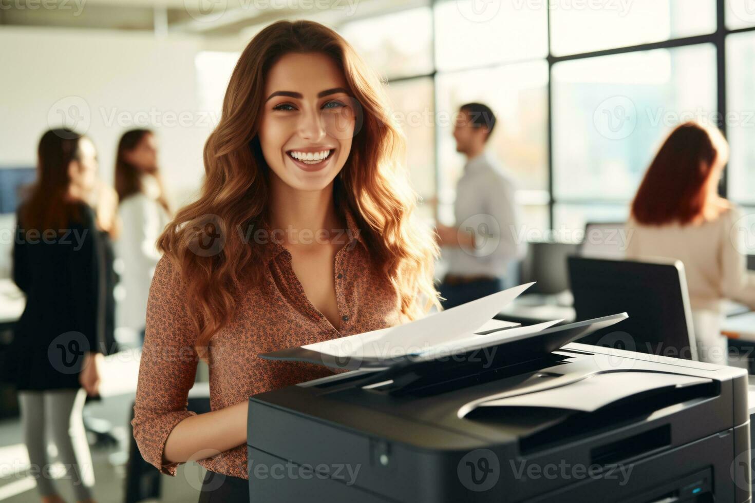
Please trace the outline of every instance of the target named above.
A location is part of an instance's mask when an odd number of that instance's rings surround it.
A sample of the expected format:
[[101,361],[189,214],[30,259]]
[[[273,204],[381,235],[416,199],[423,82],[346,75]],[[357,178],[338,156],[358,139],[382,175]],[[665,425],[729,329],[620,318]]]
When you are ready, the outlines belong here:
[[[405,137],[388,113],[380,78],[333,30],[312,21],[279,21],[259,32],[239,57],[220,121],[205,143],[199,199],[178,211],[158,241],[189,290],[202,358],[214,333],[233,317],[242,281],[258,282],[263,275],[263,246],[245,242],[239,229],[267,222],[270,168],[257,130],[265,76],[292,52],[331,57],[357,102],[351,152],[334,179],[336,206],[346,204],[352,211],[375,265],[399,293],[405,321],[422,317],[433,305],[440,308],[433,285],[439,249],[430,228],[414,217],[418,195],[402,165]],[[216,248],[196,253],[208,238]]]

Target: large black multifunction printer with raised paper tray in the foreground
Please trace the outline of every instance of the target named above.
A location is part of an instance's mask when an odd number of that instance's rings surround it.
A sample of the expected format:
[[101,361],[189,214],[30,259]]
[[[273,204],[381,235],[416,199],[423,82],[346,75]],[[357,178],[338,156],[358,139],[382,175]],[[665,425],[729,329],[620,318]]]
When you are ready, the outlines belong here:
[[257,394],[251,501],[750,501],[746,371],[572,342],[624,317]]

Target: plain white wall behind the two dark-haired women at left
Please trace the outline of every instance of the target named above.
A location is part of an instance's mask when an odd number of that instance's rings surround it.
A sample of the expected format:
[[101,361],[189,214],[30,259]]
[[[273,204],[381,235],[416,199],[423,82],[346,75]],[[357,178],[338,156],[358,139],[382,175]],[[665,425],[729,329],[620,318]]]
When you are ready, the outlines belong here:
[[180,204],[203,176],[211,130],[197,104],[201,44],[147,32],[4,27],[0,167],[34,165],[39,137],[62,124],[62,113],[94,140],[100,173],[111,182],[119,136],[143,121],[159,135],[168,196]]

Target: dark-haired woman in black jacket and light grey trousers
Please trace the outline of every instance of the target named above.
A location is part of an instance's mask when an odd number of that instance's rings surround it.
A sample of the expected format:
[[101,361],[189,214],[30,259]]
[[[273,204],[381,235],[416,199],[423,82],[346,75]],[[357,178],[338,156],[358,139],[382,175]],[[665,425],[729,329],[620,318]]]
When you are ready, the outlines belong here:
[[51,483],[48,440],[77,501],[94,501],[82,409],[87,394],[97,394],[102,360],[103,251],[88,204],[97,189],[97,153],[87,137],[59,129],[42,135],[38,157],[37,180],[18,210],[13,254],[13,278],[26,293],[11,346],[21,422],[42,501],[63,501]]

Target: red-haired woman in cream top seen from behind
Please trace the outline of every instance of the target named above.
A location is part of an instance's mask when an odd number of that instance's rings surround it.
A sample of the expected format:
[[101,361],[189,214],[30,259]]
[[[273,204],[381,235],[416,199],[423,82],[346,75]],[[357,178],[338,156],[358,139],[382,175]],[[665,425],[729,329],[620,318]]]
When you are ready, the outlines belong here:
[[718,195],[729,146],[715,128],[687,122],[668,136],[640,184],[627,222],[627,258],[667,257],[684,264],[698,358],[726,363],[721,301],[755,308],[738,232],[741,210]]

